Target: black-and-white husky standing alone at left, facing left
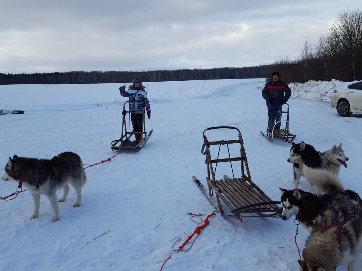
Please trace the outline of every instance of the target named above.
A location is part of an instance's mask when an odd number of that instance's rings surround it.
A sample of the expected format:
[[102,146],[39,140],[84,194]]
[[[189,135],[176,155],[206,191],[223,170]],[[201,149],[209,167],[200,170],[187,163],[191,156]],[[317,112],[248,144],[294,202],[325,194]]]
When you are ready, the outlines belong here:
[[[85,185],[87,177],[83,169],[83,163],[79,155],[73,152],[63,152],[52,159],[37,159],[9,157],[5,165],[4,181],[14,180],[24,182],[34,200],[34,211],[30,219],[39,216],[40,194],[46,195],[53,208],[52,221],[59,220],[58,202],[63,202],[69,192],[70,183],[77,194],[74,207],[80,206],[82,195],[81,188]],[[63,188],[63,195],[57,200],[56,190]]]

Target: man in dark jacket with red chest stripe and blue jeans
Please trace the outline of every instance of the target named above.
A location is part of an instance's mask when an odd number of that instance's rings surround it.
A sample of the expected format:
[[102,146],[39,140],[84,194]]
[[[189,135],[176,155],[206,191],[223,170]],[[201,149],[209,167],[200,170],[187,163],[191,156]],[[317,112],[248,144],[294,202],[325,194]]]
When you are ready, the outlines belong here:
[[[290,98],[291,90],[286,82],[283,82],[278,72],[273,72],[270,82],[267,82],[261,93],[266,100],[268,106],[268,112],[270,111],[282,111],[283,104]],[[274,122],[275,129],[280,129],[280,121],[282,118],[281,113],[271,113],[269,128],[273,129]]]

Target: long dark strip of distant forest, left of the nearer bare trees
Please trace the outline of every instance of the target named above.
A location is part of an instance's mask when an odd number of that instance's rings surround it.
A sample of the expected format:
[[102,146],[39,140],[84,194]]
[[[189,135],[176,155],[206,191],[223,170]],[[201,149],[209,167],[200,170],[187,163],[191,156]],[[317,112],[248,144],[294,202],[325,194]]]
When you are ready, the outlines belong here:
[[123,83],[141,78],[143,82],[188,81],[233,78],[264,78],[267,65],[254,67],[225,67],[213,69],[154,70],[147,72],[128,71],[72,71],[55,73],[4,74],[0,73],[0,85],[12,84],[93,84]]

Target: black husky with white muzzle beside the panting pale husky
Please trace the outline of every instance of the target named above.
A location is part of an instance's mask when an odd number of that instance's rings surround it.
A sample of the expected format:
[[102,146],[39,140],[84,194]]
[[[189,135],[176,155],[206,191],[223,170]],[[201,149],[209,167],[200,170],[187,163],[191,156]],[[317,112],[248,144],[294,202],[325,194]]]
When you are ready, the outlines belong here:
[[296,144],[292,143],[290,148],[290,157],[287,159],[289,163],[293,163],[294,171],[294,188],[298,188],[300,177],[303,175],[303,164],[311,168],[320,168],[321,158],[312,145],[304,143],[304,141]]

